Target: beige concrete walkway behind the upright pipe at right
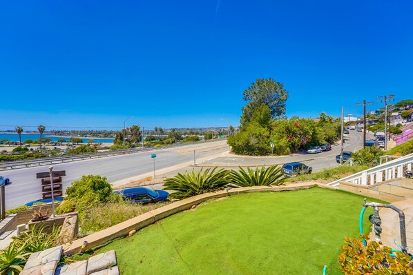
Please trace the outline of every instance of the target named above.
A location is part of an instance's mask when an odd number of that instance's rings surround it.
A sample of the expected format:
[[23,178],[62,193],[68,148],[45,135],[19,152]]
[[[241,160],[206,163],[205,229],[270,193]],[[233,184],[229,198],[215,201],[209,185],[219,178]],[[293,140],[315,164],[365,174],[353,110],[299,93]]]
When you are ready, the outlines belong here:
[[[405,213],[405,225],[406,225],[406,235],[407,235],[407,247],[409,247],[409,252],[413,252],[413,200],[397,201],[392,203],[398,209]],[[392,247],[393,249],[400,249],[396,244],[401,245],[400,241],[400,220],[398,218],[398,213],[390,208],[382,208],[379,211],[381,217],[381,227],[383,228],[383,233],[381,234],[381,241],[383,245]]]

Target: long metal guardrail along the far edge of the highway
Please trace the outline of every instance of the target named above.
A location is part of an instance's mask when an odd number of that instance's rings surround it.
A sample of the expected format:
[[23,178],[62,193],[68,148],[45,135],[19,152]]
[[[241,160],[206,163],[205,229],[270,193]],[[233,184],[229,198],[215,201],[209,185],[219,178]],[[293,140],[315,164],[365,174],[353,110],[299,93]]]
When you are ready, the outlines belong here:
[[[220,139],[224,140],[224,139]],[[220,141],[218,140],[218,141]],[[203,143],[210,143],[210,142],[215,142],[215,141],[203,141]],[[168,148],[173,148],[173,147],[182,147],[182,146],[187,146],[187,145],[195,145],[195,144],[200,144],[200,142],[191,142],[191,143],[180,143],[180,144],[171,144],[167,145],[164,147],[146,147],[146,148],[135,148],[135,149],[128,149],[128,150],[119,150],[119,151],[108,151],[108,152],[97,152],[97,153],[91,153],[91,154],[76,154],[76,155],[71,155],[71,156],[56,156],[56,157],[48,157],[48,158],[40,158],[40,159],[26,159],[22,161],[5,161],[3,163],[0,163],[0,169],[12,169],[12,168],[18,168],[18,167],[28,167],[30,165],[41,165],[41,164],[46,164],[46,163],[64,163],[68,161],[81,161],[83,159],[92,159],[95,157],[104,157],[104,156],[116,156],[116,155],[121,155],[121,154],[133,154],[133,153],[139,153],[139,152],[147,152],[147,151],[153,151],[153,150],[162,150],[162,149],[168,149]]]

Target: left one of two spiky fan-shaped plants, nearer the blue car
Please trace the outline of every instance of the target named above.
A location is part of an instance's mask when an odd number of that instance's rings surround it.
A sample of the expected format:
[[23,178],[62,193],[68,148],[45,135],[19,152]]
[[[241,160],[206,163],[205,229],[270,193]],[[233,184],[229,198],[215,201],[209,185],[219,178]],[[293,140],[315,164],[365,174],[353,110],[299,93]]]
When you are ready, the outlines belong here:
[[170,196],[173,198],[186,198],[220,190],[229,183],[229,171],[221,169],[215,172],[217,167],[199,171],[178,173],[164,182],[164,190],[176,190]]

